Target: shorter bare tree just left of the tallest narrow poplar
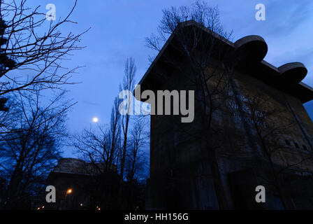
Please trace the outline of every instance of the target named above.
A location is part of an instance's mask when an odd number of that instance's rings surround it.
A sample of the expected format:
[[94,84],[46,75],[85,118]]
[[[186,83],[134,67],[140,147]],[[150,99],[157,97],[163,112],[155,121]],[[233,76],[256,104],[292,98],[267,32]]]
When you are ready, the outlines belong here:
[[[82,159],[87,162],[87,173],[93,175],[93,181],[87,186],[94,203],[102,209],[116,209],[121,146],[121,115],[119,99],[115,98],[109,125],[96,125],[82,134],[72,134],[71,146],[74,146]],[[92,170],[89,169],[92,166]]]

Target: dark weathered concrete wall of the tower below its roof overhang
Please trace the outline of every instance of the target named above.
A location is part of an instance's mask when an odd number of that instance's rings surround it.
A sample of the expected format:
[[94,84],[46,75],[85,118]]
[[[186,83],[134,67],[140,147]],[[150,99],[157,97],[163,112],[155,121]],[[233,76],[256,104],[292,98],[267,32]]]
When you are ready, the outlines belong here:
[[[166,80],[158,90],[192,90],[193,85],[186,77],[182,76],[181,71],[174,70],[168,73],[168,76],[164,76]],[[210,73],[210,69],[208,69],[208,73]],[[235,102],[235,94],[241,102],[249,97],[253,98],[254,95],[262,96],[263,94],[264,99],[267,99],[263,110],[277,109],[279,111],[277,124],[292,123],[289,130],[279,132],[278,138],[276,136],[269,140],[279,141],[277,144],[282,146],[277,153],[272,155],[277,167],[296,164],[310,157],[313,150],[312,120],[300,100],[291,95],[239,71],[233,73],[233,80],[233,90],[231,90],[233,99],[231,97],[226,100],[224,109],[214,113],[213,122],[214,127],[222,130],[217,132],[213,139],[219,146],[217,157],[228,206],[230,208],[242,208],[242,206],[245,208],[246,206],[248,208],[279,209],[281,206],[274,193],[268,193],[269,202],[264,206],[256,204],[253,200],[241,204],[239,207],[234,202],[234,197],[238,195],[234,195],[233,191],[234,188],[238,188],[238,184],[242,185],[242,189],[250,190],[248,194],[250,196],[242,197],[255,196],[254,190],[257,185],[268,186],[269,189],[272,187],[261,178],[263,174],[268,175],[266,173],[269,165],[256,130],[249,121],[244,122],[244,113],[234,114],[232,111],[228,111],[229,102]],[[196,118],[193,123],[180,123],[180,116],[152,116],[151,118],[150,209],[219,208],[208,162],[208,153],[205,152],[201,114],[197,109],[199,106],[201,104],[196,101]],[[291,146],[286,146],[286,140],[291,143]],[[296,148],[295,142],[299,148]],[[303,146],[307,150],[304,150]],[[277,168],[277,170],[279,169]],[[312,159],[300,162],[292,169],[293,172],[295,170],[312,172]],[[242,173],[241,180],[237,175],[240,172]],[[245,185],[245,183],[247,184]],[[291,204],[290,208],[295,208],[294,204]]]

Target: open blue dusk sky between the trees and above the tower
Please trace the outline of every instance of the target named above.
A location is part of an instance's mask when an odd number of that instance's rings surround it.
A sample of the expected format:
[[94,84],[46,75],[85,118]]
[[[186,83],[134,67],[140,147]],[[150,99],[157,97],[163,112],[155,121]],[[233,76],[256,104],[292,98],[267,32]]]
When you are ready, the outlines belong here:
[[[74,52],[64,66],[84,65],[73,80],[81,84],[69,86],[68,97],[78,104],[69,113],[68,129],[78,132],[92,124],[94,116],[108,123],[119,82],[124,75],[127,57],[136,59],[136,80],[140,80],[149,66],[148,57],[154,55],[145,47],[145,38],[155,32],[162,17],[162,9],[170,6],[189,6],[187,0],[78,0],[71,20],[76,25],[64,27],[62,32],[80,33],[91,29],[82,37],[81,45],[87,48]],[[31,0],[31,6],[41,5],[45,10],[54,3],[57,18],[64,17],[74,1]],[[233,41],[247,35],[260,35],[268,43],[265,60],[275,66],[288,62],[303,62],[308,74],[304,83],[313,86],[313,1],[311,0],[215,0],[219,6],[224,29],[233,30]],[[255,19],[257,3],[265,5],[265,21]],[[313,104],[305,107],[313,118]],[[65,156],[73,156],[71,148]]]

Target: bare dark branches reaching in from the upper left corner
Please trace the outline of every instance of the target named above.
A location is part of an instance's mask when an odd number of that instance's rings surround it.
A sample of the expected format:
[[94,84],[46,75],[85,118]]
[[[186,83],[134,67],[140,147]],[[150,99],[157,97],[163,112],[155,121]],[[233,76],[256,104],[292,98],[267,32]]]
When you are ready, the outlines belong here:
[[[70,16],[46,20],[40,6],[27,7],[26,0],[0,2],[0,96],[13,91],[60,88],[72,83],[71,74],[78,68],[61,65],[78,45],[82,34],[62,34],[60,29],[75,22]],[[85,32],[84,32],[85,33]]]

